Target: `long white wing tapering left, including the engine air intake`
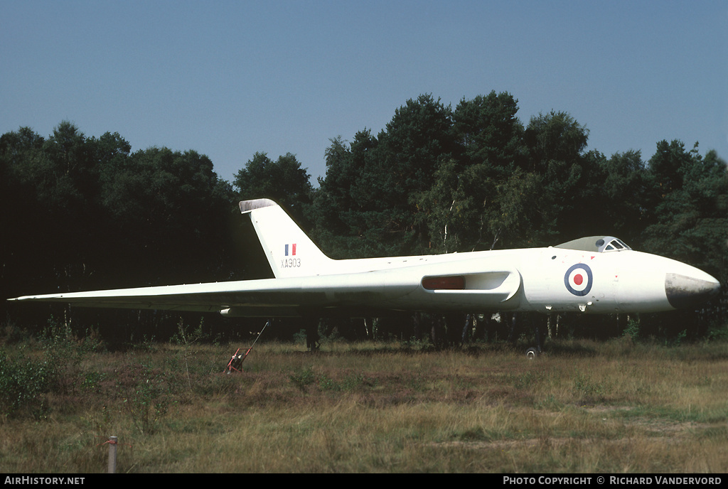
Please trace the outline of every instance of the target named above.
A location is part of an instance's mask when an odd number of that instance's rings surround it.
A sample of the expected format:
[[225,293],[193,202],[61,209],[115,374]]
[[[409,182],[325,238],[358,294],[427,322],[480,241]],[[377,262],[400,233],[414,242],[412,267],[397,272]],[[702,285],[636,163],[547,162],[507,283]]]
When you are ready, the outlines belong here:
[[[488,298],[504,303],[520,287],[518,272],[494,272],[494,282],[483,274],[458,276],[463,287],[452,290],[451,276],[427,275],[431,267],[409,270],[285,279],[243,280],[194,285],[168,285],[92,292],[26,295],[11,301],[69,303],[73,306],[221,312],[226,316],[289,317],[316,314],[369,316],[373,311],[451,309]],[[434,281],[434,282],[433,282]],[[486,281],[486,282],[484,282]],[[440,283],[445,285],[439,285]],[[432,285],[435,284],[435,285]],[[487,288],[490,287],[490,288]]]

